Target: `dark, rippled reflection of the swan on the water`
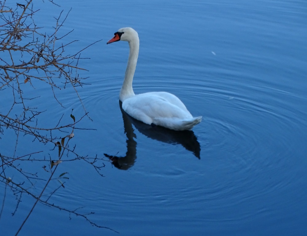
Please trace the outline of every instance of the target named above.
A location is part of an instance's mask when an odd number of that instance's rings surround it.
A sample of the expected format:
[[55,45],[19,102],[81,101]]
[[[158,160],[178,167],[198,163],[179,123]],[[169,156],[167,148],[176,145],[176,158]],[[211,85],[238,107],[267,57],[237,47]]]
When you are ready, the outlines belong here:
[[134,165],[136,159],[136,135],[134,134],[134,127],[142,134],[146,135],[147,137],[158,140],[168,144],[181,144],[185,149],[188,151],[192,151],[193,154],[200,159],[200,144],[197,141],[196,136],[192,130],[184,130],[184,131],[175,131],[170,130],[167,128],[163,128],[161,126],[151,126],[148,124],[144,124],[141,121],[135,120],[131,116],[129,116],[123,109],[122,109],[122,102],[119,101],[119,107],[122,112],[122,119],[124,121],[124,129],[127,136],[127,152],[126,156],[119,157],[104,154],[108,157],[112,164],[121,170],[127,170]]

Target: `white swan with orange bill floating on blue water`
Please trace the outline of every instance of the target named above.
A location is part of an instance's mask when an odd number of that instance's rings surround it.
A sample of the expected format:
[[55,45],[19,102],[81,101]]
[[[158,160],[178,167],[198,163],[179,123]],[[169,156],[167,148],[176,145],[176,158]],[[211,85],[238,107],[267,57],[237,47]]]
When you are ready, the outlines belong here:
[[134,94],[132,81],[140,46],[138,33],[130,27],[121,28],[107,44],[117,41],[128,41],[130,48],[125,78],[119,93],[123,110],[145,124],[159,125],[172,130],[189,130],[199,124],[202,116],[193,117],[185,104],[169,92]]

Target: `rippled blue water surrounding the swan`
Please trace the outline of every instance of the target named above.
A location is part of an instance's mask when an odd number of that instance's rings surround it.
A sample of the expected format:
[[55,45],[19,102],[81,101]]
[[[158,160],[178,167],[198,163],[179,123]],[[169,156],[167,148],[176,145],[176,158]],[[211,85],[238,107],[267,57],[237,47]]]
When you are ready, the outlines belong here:
[[[59,174],[67,171],[70,179],[51,202],[94,211],[92,221],[120,235],[307,234],[305,0],[36,4],[44,30],[72,6],[63,34],[74,28],[65,40],[80,41],[69,50],[103,39],[81,62],[90,85],[79,93],[93,120],[82,126],[96,130],[76,131],[72,142],[82,155],[119,157],[114,166],[105,162],[105,177],[85,162],[62,164]],[[140,37],[134,92],[177,95],[203,116],[193,131],[153,129],[122,114],[118,96],[129,48],[106,42],[126,26]],[[36,89],[49,106],[47,126],[72,108],[82,113],[73,91],[58,92],[65,109],[46,91]],[[2,137],[1,152],[10,142]],[[21,146],[20,153],[30,152]],[[3,235],[16,233],[31,204],[25,196],[12,217],[16,200],[7,192]],[[117,235],[37,205],[21,235],[54,234]]]

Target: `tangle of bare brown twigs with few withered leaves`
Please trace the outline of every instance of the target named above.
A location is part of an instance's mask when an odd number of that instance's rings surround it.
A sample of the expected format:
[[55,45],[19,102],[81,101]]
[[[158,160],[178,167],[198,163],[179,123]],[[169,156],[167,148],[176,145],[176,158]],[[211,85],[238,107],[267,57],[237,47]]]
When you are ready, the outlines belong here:
[[[59,6],[54,0],[48,0],[48,2]],[[12,213],[13,215],[21,203],[24,193],[33,197],[35,200],[35,203],[25,220],[21,223],[16,235],[26,223],[37,203],[66,211],[70,216],[72,214],[81,216],[93,226],[110,229],[92,222],[87,217],[87,215],[93,214],[92,212],[81,214],[78,211],[80,208],[69,210],[62,206],[57,206],[57,204],[50,203],[52,200],[51,196],[58,189],[64,187],[65,182],[62,183],[61,179],[68,179],[65,175],[67,172],[56,177],[57,167],[62,161],[83,160],[93,166],[99,175],[103,176],[101,174],[101,168],[105,166],[103,161],[107,160],[97,156],[89,157],[79,155],[76,152],[76,144],[72,147],[69,146],[69,142],[74,136],[74,130],[88,130],[77,127],[85,116],[88,117],[88,112],[86,112],[77,91],[78,87],[85,85],[84,80],[86,79],[79,75],[79,71],[87,71],[81,68],[78,63],[80,59],[88,59],[82,58],[80,53],[100,40],[86,46],[77,53],[68,54],[66,48],[76,40],[64,44],[61,41],[69,33],[72,33],[73,30],[64,34],[64,36],[59,36],[60,29],[67,19],[68,14],[63,16],[62,11],[59,17],[55,18],[55,27],[49,35],[44,32],[42,33],[42,28],[36,25],[34,14],[37,11],[33,9],[33,0],[20,0],[15,5],[8,5],[6,0],[0,1],[0,93],[1,99],[4,97],[7,99],[6,102],[2,101],[0,105],[0,139],[6,135],[7,131],[13,131],[16,136],[14,154],[6,154],[3,150],[1,150],[2,153],[0,152],[0,183],[5,186],[4,198],[0,209],[0,219],[5,207],[4,203],[7,191],[10,190],[17,201],[15,210]],[[58,100],[55,91],[71,86],[76,92],[80,104],[82,104],[84,115],[81,115],[76,120],[71,113],[70,117],[73,122],[69,124],[63,122],[63,115],[56,125],[48,128],[41,126],[41,122],[39,122],[40,117],[45,111],[33,107],[33,104],[35,104],[33,101],[39,96],[34,96],[31,92],[31,89],[35,89],[39,84],[49,86],[54,99],[60,107],[63,107],[63,104]],[[29,154],[17,156],[19,147],[18,140],[25,136],[30,138],[30,140],[32,139],[32,142],[38,142],[44,145],[51,144],[53,149],[50,151],[58,151],[58,160],[52,160],[49,154],[49,157],[46,157],[46,154],[44,154],[45,151],[43,150],[30,151],[31,153]],[[64,155],[66,157],[62,159]],[[22,163],[24,162],[42,163],[42,171],[37,171],[36,173],[27,172],[22,168]],[[47,173],[48,177],[46,175],[42,176],[41,172]],[[12,173],[15,173],[14,179],[10,178]],[[59,185],[53,191],[46,194],[47,186],[52,181],[58,181]],[[37,193],[36,186],[38,182],[40,184],[43,183],[43,187]]]

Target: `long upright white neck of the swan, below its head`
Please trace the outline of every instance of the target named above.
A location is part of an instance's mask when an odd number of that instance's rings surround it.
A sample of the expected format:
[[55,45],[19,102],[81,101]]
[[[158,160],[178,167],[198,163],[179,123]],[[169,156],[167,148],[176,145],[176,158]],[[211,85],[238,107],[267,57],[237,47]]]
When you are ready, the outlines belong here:
[[132,40],[129,41],[130,51],[129,51],[128,64],[125,72],[125,79],[122,84],[122,89],[120,90],[119,93],[119,100],[121,100],[122,102],[125,99],[135,95],[132,89],[132,81],[136,68],[136,63],[138,61],[139,47],[140,47],[140,41],[138,36],[136,35],[136,37],[134,37]]

